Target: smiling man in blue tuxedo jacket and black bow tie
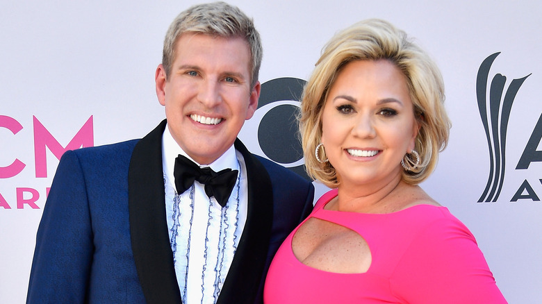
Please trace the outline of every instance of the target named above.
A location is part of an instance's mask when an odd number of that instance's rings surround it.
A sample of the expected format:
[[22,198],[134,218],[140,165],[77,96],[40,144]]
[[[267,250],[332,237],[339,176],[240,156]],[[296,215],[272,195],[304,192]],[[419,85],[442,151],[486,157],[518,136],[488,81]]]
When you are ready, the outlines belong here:
[[257,107],[261,53],[238,8],[181,12],[156,69],[166,120],[142,140],[60,160],[27,303],[262,302],[314,189],[236,140]]

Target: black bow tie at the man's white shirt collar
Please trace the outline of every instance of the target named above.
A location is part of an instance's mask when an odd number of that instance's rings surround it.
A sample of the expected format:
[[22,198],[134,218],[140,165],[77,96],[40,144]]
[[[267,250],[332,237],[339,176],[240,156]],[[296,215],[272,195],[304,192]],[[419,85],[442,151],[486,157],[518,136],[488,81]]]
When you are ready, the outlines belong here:
[[181,194],[192,187],[195,180],[205,185],[205,193],[209,198],[215,196],[216,201],[224,207],[231,190],[236,185],[237,170],[224,169],[219,172],[209,167],[200,168],[188,158],[180,155],[175,159],[173,175],[177,193]]

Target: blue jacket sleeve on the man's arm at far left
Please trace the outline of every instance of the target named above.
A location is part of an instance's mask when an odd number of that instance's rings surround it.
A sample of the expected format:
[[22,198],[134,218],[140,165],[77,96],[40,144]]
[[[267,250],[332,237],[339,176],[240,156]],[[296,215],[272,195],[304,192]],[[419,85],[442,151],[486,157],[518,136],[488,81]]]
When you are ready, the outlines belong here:
[[67,151],[38,228],[26,303],[84,303],[93,250],[85,176]]

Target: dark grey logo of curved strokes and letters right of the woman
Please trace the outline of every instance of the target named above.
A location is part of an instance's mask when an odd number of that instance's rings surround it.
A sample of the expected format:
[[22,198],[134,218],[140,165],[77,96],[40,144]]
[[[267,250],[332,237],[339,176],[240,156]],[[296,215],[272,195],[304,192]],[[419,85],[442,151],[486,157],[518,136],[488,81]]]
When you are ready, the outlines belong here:
[[[512,80],[507,90],[504,91],[507,77],[502,74],[495,74],[491,83],[489,83],[489,90],[487,90],[489,69],[499,54],[500,52],[493,53],[482,62],[476,80],[478,110],[486,133],[490,164],[486,187],[478,199],[478,203],[496,202],[500,196],[504,184],[504,169],[507,160],[507,130],[512,104],[514,103],[514,99],[516,98],[516,94],[520,87],[527,77],[531,76],[531,74],[528,74],[523,78]],[[536,151],[541,140],[542,114],[532,131],[518,164],[516,165],[516,170],[528,169],[531,162],[542,161],[542,151]],[[539,181],[542,183],[542,180]],[[510,201],[515,202],[518,201],[518,199],[540,201],[539,197],[534,192],[534,189],[526,179],[520,185]]]

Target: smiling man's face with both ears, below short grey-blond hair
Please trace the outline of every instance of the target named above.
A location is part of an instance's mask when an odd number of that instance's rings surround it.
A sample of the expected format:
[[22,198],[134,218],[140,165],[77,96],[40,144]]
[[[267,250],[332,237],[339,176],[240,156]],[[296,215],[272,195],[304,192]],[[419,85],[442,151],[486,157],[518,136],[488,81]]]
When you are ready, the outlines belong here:
[[156,69],[156,94],[174,140],[199,164],[210,164],[254,115],[260,83],[251,87],[250,51],[243,38],[184,33],[170,76]]

